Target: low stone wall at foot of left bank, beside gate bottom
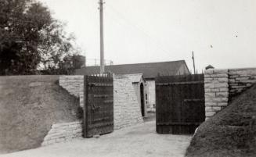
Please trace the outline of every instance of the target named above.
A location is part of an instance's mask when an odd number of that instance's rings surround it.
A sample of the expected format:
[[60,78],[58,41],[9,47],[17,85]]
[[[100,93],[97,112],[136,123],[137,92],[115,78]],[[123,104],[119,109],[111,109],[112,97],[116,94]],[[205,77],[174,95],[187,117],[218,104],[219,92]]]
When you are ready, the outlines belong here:
[[81,121],[71,123],[56,123],[52,125],[51,130],[45,136],[41,146],[52,145],[55,143],[70,141],[82,136]]

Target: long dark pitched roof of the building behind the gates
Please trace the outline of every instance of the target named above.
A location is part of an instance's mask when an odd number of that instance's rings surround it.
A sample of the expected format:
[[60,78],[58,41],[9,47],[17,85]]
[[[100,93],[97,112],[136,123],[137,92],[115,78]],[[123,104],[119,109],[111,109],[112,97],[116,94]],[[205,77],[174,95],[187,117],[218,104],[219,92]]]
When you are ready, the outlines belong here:
[[[189,71],[184,60],[173,62],[149,62],[105,66],[105,71],[115,74],[142,73],[145,79],[149,79],[157,77],[158,74],[177,75],[178,70],[182,65],[184,65],[187,71]],[[99,73],[99,66],[86,66],[81,69],[75,70],[76,75],[90,75],[93,73]]]

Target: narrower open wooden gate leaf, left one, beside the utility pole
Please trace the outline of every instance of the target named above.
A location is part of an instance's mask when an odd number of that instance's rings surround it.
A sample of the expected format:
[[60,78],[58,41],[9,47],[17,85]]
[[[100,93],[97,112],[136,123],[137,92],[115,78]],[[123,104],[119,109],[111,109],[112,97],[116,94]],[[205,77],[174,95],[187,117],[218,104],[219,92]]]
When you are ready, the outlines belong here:
[[107,134],[114,130],[113,77],[85,76],[83,136]]

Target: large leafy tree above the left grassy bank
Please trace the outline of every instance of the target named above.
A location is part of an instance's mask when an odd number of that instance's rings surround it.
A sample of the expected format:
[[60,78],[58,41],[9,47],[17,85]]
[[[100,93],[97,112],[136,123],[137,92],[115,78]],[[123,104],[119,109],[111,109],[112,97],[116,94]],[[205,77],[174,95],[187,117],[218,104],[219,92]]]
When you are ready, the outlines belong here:
[[0,75],[58,70],[73,41],[40,2],[0,0]]

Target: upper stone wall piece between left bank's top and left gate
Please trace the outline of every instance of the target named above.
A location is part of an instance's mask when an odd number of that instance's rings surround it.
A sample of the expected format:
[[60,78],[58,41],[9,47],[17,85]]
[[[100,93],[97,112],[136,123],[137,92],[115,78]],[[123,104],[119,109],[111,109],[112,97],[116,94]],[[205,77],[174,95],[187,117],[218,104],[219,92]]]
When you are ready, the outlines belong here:
[[59,85],[66,89],[70,95],[79,98],[80,106],[84,107],[84,76],[63,76],[59,77]]

